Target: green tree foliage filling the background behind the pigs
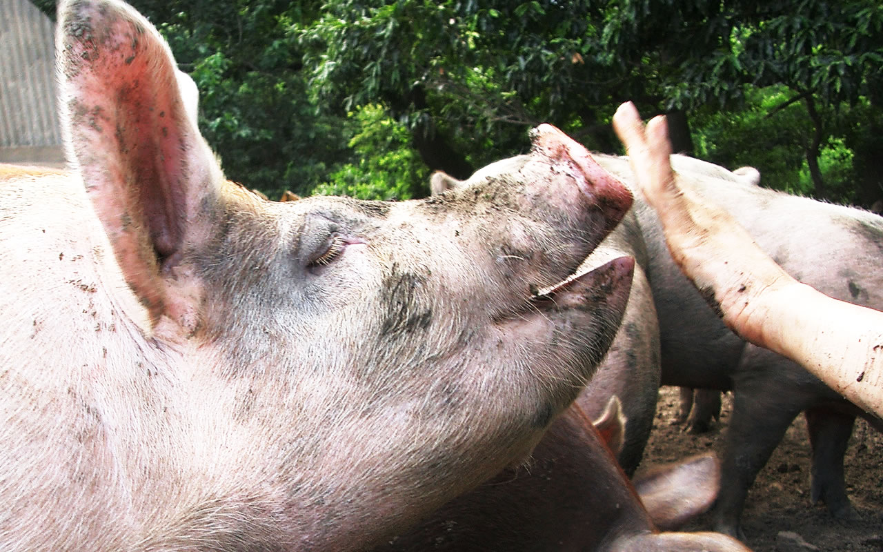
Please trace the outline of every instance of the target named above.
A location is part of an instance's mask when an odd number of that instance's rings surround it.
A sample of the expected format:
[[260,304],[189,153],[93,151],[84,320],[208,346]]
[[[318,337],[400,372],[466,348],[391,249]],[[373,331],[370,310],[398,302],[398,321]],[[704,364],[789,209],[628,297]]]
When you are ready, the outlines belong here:
[[465,177],[540,122],[615,152],[609,117],[633,100],[766,184],[883,198],[876,0],[132,4],[200,87],[230,177],[271,197],[420,195],[428,170]]

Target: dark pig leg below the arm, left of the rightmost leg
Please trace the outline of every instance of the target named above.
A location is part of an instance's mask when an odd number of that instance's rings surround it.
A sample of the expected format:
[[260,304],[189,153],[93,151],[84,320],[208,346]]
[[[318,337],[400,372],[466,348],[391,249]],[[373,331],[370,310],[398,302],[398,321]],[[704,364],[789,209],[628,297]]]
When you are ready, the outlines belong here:
[[[763,380],[763,378],[760,378]],[[713,529],[744,541],[739,518],[748,489],[803,408],[783,404],[781,389],[756,381],[733,389],[733,415],[721,455],[721,493],[713,507]]]

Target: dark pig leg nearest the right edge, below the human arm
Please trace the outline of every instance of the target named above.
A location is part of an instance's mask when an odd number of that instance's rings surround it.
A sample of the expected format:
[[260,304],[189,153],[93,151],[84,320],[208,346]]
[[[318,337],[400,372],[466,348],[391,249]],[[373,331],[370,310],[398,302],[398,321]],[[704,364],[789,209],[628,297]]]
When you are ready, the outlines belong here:
[[852,435],[854,415],[817,407],[805,412],[812,446],[812,503],[825,503],[834,518],[857,519],[843,478],[843,455]]

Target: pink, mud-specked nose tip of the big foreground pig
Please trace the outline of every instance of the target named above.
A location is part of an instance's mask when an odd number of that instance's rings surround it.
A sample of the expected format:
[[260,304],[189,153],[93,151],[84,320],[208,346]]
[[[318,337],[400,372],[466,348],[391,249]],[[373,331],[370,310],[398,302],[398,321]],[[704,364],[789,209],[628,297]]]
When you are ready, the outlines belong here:
[[533,151],[546,156],[556,166],[567,171],[577,187],[592,204],[596,204],[604,216],[618,223],[631,207],[629,189],[602,168],[592,155],[553,125],[540,125],[532,130]]

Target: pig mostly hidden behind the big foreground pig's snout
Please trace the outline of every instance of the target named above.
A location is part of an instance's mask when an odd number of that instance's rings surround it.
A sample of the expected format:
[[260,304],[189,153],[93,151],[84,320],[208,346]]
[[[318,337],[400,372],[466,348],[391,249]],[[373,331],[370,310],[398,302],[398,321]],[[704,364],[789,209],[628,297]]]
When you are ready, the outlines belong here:
[[[513,178],[511,175],[517,175],[526,160],[521,155],[491,163],[467,180],[457,180],[437,171],[430,178],[430,189],[439,194],[481,185],[489,178]],[[647,262],[647,251],[637,218],[631,213],[624,216],[580,270],[599,267],[623,255],[636,261],[629,304],[614,343],[592,380],[577,397],[577,403],[595,419],[600,417],[610,397],[618,397],[627,421],[623,446],[618,450],[617,458],[625,473],[631,476],[640,464],[653,428],[660,386],[659,326],[650,284],[642,268]]]

